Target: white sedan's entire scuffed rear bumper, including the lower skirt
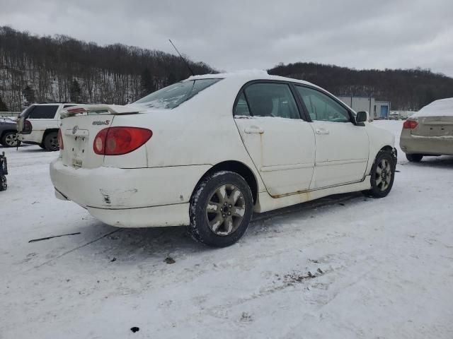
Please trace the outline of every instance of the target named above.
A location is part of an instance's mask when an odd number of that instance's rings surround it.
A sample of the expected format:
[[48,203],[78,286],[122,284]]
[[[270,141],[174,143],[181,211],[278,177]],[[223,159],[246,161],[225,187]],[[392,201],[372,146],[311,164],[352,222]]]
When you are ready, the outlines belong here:
[[193,189],[210,165],[75,169],[50,164],[57,198],[71,200],[95,218],[120,227],[188,225]]

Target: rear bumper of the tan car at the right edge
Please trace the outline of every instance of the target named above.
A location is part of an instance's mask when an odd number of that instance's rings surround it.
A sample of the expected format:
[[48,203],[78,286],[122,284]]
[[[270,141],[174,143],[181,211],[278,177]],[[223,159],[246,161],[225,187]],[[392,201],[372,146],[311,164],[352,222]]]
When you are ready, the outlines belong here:
[[399,145],[406,154],[453,155],[453,138],[413,136],[408,129],[401,132]]

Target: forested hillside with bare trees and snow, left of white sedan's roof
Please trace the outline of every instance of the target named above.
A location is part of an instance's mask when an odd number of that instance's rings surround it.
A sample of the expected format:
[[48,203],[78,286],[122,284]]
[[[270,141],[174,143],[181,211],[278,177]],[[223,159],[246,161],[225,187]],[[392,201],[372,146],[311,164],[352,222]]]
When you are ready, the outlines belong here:
[[[190,62],[195,74],[214,72]],[[125,104],[190,76],[180,57],[71,37],[37,37],[0,27],[0,106],[21,110],[30,102]],[[4,102],[4,105],[1,105]],[[1,109],[0,109],[1,110]]]

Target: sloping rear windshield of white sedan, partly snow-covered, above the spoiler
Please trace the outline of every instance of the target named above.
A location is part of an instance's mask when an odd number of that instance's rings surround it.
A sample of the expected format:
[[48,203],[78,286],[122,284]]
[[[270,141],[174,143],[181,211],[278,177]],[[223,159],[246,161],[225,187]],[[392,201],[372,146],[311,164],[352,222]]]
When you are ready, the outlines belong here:
[[134,104],[143,104],[148,107],[172,109],[183,102],[190,100],[192,97],[200,93],[202,90],[214,85],[222,79],[198,79],[181,81],[180,83],[173,83],[166,88],[156,90],[156,92],[142,97]]

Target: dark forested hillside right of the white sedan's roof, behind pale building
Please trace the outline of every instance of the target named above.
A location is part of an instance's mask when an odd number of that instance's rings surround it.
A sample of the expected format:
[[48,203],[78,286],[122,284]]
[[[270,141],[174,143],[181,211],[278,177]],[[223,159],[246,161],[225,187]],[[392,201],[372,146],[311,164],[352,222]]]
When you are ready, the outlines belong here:
[[279,64],[270,74],[316,83],[335,95],[374,96],[392,109],[418,110],[433,100],[453,97],[453,78],[424,69],[348,69],[314,63]]

